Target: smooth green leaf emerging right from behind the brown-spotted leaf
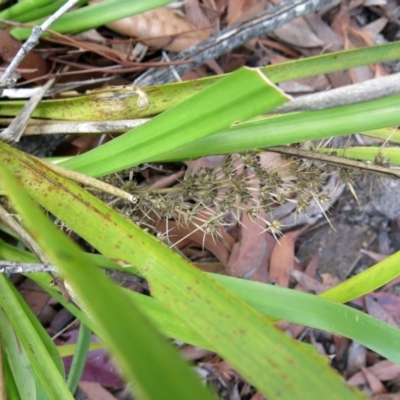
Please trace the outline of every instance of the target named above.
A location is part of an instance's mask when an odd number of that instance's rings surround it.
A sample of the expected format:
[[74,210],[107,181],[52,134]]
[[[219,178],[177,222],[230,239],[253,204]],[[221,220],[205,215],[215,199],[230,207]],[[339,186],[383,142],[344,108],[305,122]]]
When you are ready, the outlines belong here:
[[349,306],[335,304],[330,301],[333,297],[323,298],[223,275],[213,274],[213,277],[270,317],[335,332],[400,364],[400,349],[396,344],[400,330]]

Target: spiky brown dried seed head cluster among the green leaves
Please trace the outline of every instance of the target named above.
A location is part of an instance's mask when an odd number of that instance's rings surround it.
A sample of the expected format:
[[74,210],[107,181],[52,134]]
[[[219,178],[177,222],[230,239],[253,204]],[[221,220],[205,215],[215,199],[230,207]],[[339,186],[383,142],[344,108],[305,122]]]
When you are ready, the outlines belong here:
[[196,166],[196,162],[190,165],[170,188],[151,189],[138,184],[138,169],[104,178],[132,194],[132,202],[104,193],[96,195],[155,234],[157,221],[164,219],[214,238],[220,236],[221,229],[240,223],[243,214],[278,237],[282,224],[273,216],[276,207],[293,202],[296,212],[302,213],[312,200],[322,204],[329,199],[329,193],[323,190],[327,167],[310,160],[276,155],[268,158],[265,153],[249,151],[226,156],[212,168]]

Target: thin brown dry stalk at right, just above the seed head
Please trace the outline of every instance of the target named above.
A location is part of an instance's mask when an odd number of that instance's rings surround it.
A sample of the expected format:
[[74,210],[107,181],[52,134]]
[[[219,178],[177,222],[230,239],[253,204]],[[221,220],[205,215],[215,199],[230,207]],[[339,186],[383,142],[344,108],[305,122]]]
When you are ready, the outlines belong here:
[[308,158],[310,160],[323,161],[330,165],[336,165],[339,167],[348,167],[358,169],[360,171],[370,172],[375,175],[384,176],[386,178],[399,179],[400,169],[394,169],[393,167],[382,167],[380,165],[367,164],[362,161],[352,160],[350,158],[333,156],[330,154],[318,153],[315,151],[301,150],[294,147],[269,147],[268,151],[273,151],[279,154],[291,155],[299,158]]

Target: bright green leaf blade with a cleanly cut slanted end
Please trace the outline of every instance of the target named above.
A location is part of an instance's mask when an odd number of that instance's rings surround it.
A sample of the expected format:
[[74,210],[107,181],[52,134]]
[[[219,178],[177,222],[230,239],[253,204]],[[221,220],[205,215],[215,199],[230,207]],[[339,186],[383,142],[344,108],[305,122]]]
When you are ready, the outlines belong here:
[[136,163],[146,162],[160,149],[179,148],[288,100],[258,69],[243,68],[145,125],[61,165],[83,173],[96,171],[95,176],[109,174],[123,164],[132,166],[132,157]]

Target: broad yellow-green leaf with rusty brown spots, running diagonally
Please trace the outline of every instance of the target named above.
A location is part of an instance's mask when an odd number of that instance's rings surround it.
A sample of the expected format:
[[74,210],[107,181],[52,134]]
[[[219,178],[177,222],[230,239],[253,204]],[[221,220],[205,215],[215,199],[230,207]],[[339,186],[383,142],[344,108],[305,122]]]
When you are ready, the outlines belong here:
[[0,159],[15,173],[23,166],[19,177],[35,200],[107,258],[137,266],[158,301],[271,399],[362,398],[252,307],[82,188],[6,144]]

